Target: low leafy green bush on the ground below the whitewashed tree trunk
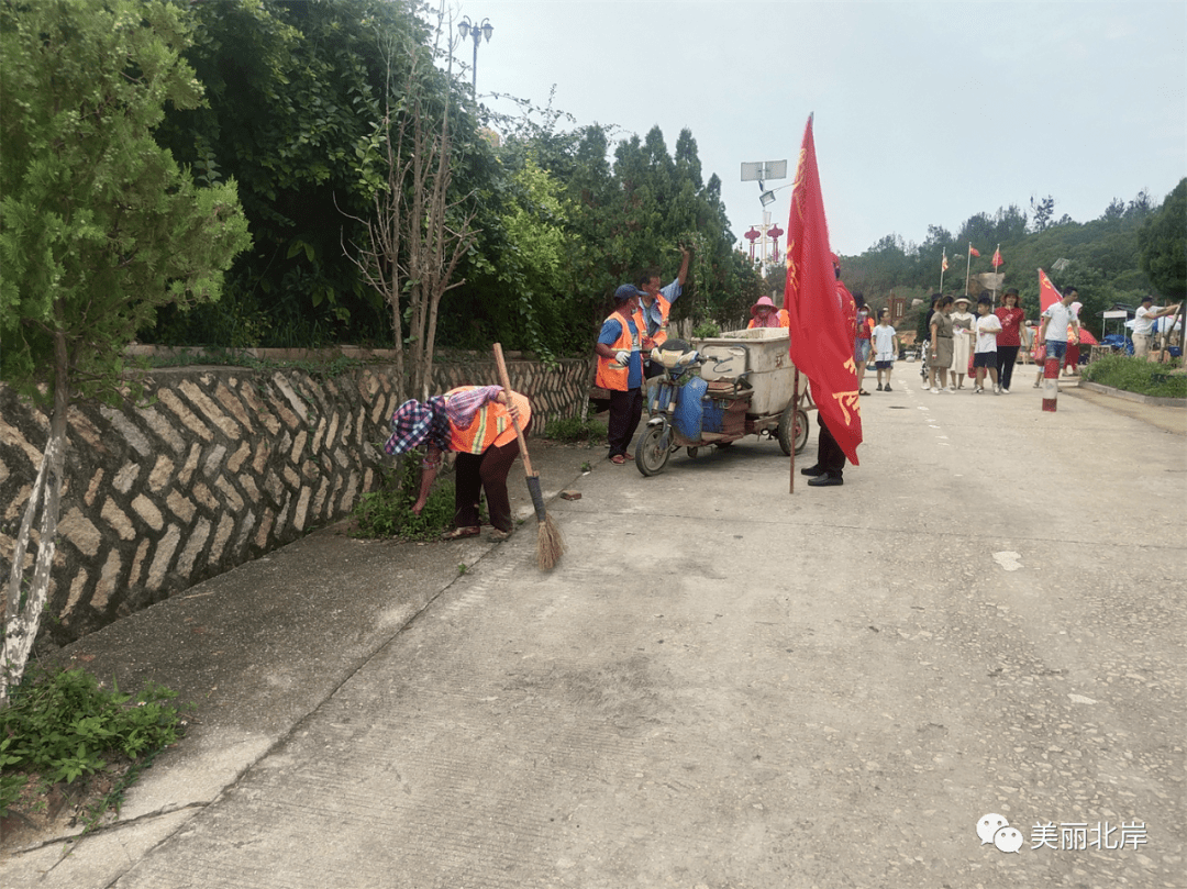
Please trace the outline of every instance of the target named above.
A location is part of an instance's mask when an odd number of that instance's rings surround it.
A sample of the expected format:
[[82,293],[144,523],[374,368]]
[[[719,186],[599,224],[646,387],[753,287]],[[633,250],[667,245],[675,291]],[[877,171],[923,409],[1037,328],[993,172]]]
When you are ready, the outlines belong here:
[[104,756],[151,757],[180,736],[176,692],[148,685],[139,694],[101,688],[90,673],[31,669],[0,711],[0,817],[30,774],[74,783],[107,766]]

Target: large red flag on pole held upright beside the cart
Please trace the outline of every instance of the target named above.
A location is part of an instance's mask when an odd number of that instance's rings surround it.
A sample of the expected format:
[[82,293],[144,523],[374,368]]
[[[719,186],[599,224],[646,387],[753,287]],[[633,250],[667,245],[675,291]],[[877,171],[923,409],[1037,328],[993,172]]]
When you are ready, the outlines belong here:
[[856,307],[833,269],[829,224],[812,138],[812,118],[795,169],[787,220],[787,284],[783,307],[789,317],[792,362],[812,382],[812,398],[840,450],[857,465],[862,411],[853,363]]

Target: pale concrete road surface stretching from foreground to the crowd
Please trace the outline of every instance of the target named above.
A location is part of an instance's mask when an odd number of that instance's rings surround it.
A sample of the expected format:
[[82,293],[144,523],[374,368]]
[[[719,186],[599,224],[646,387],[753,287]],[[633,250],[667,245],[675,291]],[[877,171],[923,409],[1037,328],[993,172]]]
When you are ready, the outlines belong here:
[[[583,497],[550,502],[552,574],[533,521],[426,547],[466,570],[398,627],[294,628],[332,668],[272,694],[307,706],[216,709],[127,824],[0,883],[1187,885],[1185,424],[900,375],[862,400],[843,488],[789,496],[773,442],[654,478],[596,452],[553,476]],[[799,466],[814,449],[813,418]],[[386,589],[380,551],[319,546],[347,555],[284,551],[253,584]],[[247,744],[223,771],[220,736]]]

